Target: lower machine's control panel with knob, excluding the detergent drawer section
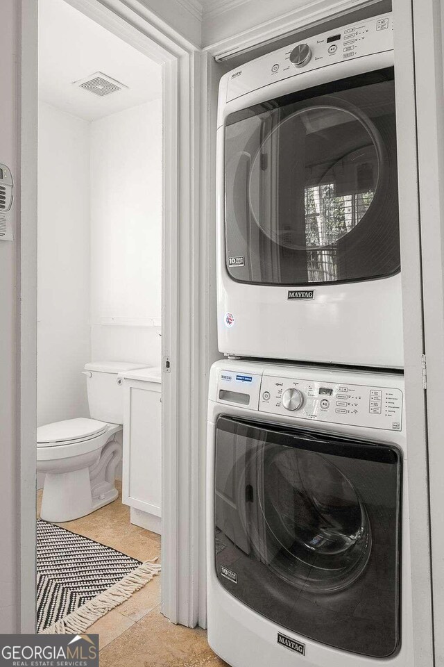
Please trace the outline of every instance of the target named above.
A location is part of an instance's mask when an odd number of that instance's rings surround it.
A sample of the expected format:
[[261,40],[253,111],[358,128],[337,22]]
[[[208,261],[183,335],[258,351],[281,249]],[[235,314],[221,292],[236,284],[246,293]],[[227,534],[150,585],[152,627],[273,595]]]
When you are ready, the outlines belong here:
[[334,384],[264,374],[259,411],[400,431],[402,400],[402,391],[398,388]]

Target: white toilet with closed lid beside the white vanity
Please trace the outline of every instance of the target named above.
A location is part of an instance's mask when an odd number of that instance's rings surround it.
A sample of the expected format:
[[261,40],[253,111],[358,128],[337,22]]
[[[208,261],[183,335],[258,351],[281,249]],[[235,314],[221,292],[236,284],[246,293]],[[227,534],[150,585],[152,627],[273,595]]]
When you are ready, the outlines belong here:
[[37,472],[45,473],[40,516],[64,522],[85,516],[117,498],[115,472],[122,457],[121,372],[146,364],[87,363],[91,418],[80,417],[37,428]]

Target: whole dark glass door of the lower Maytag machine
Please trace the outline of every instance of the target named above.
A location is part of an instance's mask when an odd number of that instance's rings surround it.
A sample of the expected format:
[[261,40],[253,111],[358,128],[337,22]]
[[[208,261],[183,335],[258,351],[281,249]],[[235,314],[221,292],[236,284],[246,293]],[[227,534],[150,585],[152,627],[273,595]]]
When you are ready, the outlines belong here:
[[398,450],[221,417],[215,470],[221,585],[300,636],[367,656],[393,654]]

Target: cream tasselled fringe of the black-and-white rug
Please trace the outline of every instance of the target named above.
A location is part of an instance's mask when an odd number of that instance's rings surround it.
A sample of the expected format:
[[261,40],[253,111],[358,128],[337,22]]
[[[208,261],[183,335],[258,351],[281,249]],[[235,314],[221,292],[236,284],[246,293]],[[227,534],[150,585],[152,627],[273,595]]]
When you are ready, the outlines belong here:
[[56,623],[42,630],[40,634],[82,634],[96,620],[108,614],[108,611],[118,607],[122,602],[129,600],[133,593],[151,582],[151,579],[160,573],[161,566],[155,561],[157,558],[154,561],[142,563],[107,591],[85,602],[82,607],[72,611],[65,618],[60,618]]

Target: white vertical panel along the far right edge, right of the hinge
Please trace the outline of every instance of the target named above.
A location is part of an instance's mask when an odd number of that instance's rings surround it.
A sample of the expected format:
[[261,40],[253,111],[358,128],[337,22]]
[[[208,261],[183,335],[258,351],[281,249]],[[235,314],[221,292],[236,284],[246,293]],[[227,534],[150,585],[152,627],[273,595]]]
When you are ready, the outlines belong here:
[[[399,1],[399,0],[398,0]],[[416,79],[435,664],[444,665],[444,6],[411,0]],[[426,365],[427,360],[427,365]]]

